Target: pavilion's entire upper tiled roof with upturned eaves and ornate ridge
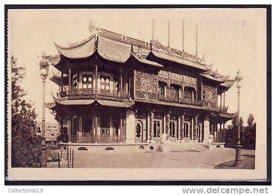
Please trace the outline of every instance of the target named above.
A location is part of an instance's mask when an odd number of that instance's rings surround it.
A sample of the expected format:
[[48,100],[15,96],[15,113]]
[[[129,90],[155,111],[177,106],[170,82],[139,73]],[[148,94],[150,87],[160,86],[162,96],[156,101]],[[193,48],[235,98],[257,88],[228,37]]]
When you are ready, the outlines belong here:
[[[97,53],[101,58],[111,62],[124,64],[133,58],[142,64],[163,67],[163,65],[150,60],[151,57],[155,57],[203,70],[202,76],[207,79],[221,83],[227,81],[227,77],[219,75],[217,71],[213,72],[211,67],[204,63],[204,57],[200,59],[183,51],[168,49],[158,41],[153,41],[153,47],[150,47],[151,44],[147,42],[104,29],[97,28],[96,31],[91,29],[90,31],[92,35],[83,41],[68,44],[67,46],[55,44],[59,55],[48,57],[52,65],[57,66],[59,63],[63,63],[61,62],[61,56],[69,59],[85,59]],[[230,82],[227,82],[221,86],[226,87],[229,85]]]

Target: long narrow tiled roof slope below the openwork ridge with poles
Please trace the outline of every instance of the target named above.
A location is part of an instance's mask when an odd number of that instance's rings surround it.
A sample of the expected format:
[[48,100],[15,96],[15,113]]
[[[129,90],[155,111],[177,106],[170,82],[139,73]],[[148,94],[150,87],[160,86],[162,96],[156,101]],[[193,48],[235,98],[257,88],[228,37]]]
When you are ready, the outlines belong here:
[[169,61],[176,62],[176,63],[179,63],[179,64],[183,64],[183,65],[186,65],[186,66],[190,66],[190,67],[193,67],[193,68],[198,68],[198,69],[201,69],[201,70],[207,70],[206,67],[204,67],[203,65],[200,65],[198,62],[187,60],[187,59],[180,58],[180,57],[177,57],[177,56],[173,56],[173,55],[167,54],[165,52],[152,51],[152,54],[157,58],[169,60]]

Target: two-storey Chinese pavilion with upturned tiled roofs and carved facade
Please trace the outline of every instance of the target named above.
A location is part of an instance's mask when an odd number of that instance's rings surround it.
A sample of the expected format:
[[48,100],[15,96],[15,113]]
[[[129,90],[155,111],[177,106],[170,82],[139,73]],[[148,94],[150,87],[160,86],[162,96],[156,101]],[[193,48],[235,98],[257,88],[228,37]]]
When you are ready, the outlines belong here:
[[77,145],[224,143],[225,92],[234,80],[203,58],[99,28],[48,57],[61,141]]

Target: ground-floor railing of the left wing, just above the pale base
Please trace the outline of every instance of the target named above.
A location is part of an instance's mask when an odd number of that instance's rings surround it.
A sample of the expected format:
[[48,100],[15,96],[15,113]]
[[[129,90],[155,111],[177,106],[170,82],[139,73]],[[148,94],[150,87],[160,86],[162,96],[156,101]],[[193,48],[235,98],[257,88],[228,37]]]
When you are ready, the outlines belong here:
[[126,137],[121,135],[110,136],[110,134],[91,135],[90,133],[82,135],[71,135],[72,143],[125,143]]

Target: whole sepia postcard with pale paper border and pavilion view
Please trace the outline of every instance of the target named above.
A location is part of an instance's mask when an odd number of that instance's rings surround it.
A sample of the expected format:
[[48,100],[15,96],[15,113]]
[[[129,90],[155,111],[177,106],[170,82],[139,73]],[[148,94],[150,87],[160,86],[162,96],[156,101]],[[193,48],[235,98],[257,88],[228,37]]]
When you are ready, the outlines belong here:
[[8,10],[8,178],[265,179],[266,22]]

